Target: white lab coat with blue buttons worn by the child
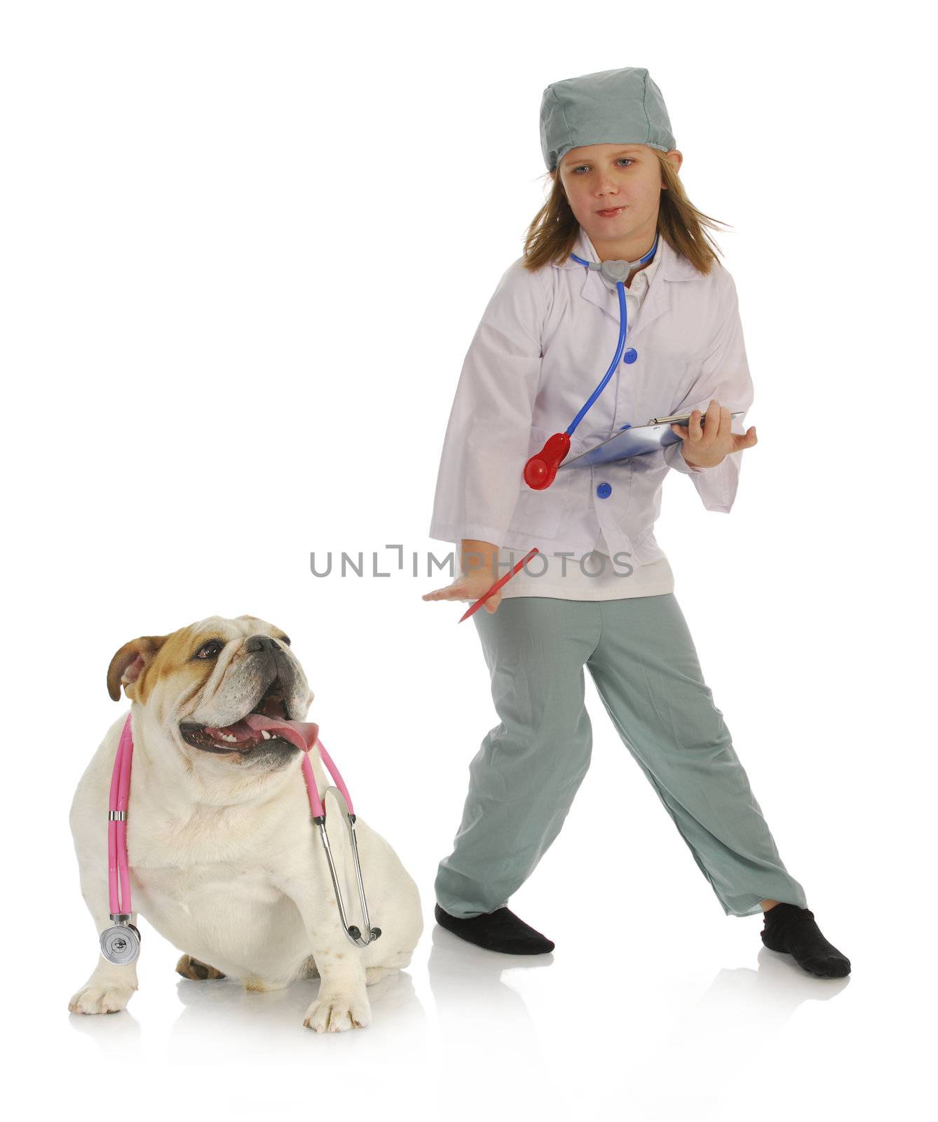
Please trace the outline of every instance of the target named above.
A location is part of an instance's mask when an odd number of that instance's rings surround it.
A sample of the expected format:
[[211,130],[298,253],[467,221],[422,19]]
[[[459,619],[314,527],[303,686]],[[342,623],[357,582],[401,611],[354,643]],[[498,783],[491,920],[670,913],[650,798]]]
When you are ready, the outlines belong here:
[[[582,227],[573,252],[599,260]],[[659,261],[623,359],[571,438],[568,459],[628,422],[704,410],[711,398],[743,416],[753,401],[736,286],[716,264],[708,276],[660,237]],[[644,564],[663,557],[653,528],[669,468],[689,475],[708,511],[729,512],[743,452],[691,469],[680,443],[615,463],[559,471],[542,491],[524,463],[562,432],[608,370],[619,332],[618,295],[568,258],[534,273],[514,261],[476,331],[443,440],[430,536],[582,557],[605,539],[610,554]],[[627,364],[629,350],[636,352]],[[597,495],[611,486],[607,498]],[[603,543],[599,543],[603,548]]]

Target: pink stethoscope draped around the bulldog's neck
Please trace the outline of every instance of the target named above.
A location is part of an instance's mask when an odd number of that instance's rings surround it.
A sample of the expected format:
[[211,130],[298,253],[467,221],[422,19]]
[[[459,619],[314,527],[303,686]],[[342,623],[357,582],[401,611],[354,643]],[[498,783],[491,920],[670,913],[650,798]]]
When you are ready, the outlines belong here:
[[[275,721],[270,721],[272,727]],[[306,793],[310,797],[310,808],[313,811],[313,821],[319,827],[322,845],[329,862],[329,873],[332,876],[332,890],[335,893],[335,902],[339,905],[339,916],[346,935],[357,947],[367,947],[369,942],[379,938],[381,929],[371,927],[368,919],[368,904],[365,900],[365,885],[361,881],[361,867],[358,862],[358,839],[355,834],[355,811],[352,809],[351,795],[346,787],[344,780],[339,774],[339,769],[332,762],[331,756],[323,747],[319,737],[313,742],[319,745],[322,762],[329,769],[330,774],[335,780],[335,787],[327,788],[324,793],[333,791],[337,800],[344,804],[343,810],[349,828],[349,839],[355,859],[355,875],[358,881],[358,898],[361,902],[361,918],[368,938],[361,936],[361,930],[355,925],[349,926],[346,908],[342,902],[342,893],[339,888],[339,877],[335,873],[335,862],[332,859],[332,849],[329,845],[329,835],[325,833],[325,807],[319,797],[316,781],[313,775],[313,765],[310,763],[310,745],[305,743],[298,730],[284,728],[278,725],[277,735],[295,744],[303,752],[303,779],[306,781]],[[108,799],[108,895],[111,909],[111,927],[101,932],[101,954],[109,963],[123,966],[132,963],[140,953],[140,932],[130,922],[132,905],[130,903],[130,868],[127,862],[127,803],[130,797],[130,766],[134,758],[134,736],[130,730],[130,714],[123,723],[123,728],[118,743],[117,755],[114,756],[114,770],[111,773],[111,793]]]

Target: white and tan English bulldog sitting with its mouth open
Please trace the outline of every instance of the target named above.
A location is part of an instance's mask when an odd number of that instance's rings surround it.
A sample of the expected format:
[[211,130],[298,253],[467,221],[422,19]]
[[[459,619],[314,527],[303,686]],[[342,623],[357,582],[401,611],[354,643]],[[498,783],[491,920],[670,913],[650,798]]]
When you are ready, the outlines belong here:
[[[311,737],[322,798],[330,781],[315,746],[318,726],[301,725],[313,693],[289,638],[255,616],[213,616],[171,635],[125,643],[108,670],[114,701],[121,686],[131,701],[134,736],[130,922],[145,916],[183,951],[176,971],[184,977],[227,976],[248,990],[278,990],[319,976],[306,1028],[341,1032],[367,1026],[366,986],[411,962],[423,930],[420,894],[388,843],[356,815],[369,920],[381,935],[367,947],[346,935],[312,819],[302,751],[278,735],[278,728],[300,726]],[[70,815],[82,895],[99,936],[111,926],[108,797],[125,719],[126,712],[101,742]],[[251,727],[251,720],[263,727]],[[337,763],[349,756],[340,748]],[[360,905],[351,846],[331,793],[325,812],[348,921],[355,923]],[[100,955],[68,1009],[116,1013],[136,988],[136,960],[114,965]]]

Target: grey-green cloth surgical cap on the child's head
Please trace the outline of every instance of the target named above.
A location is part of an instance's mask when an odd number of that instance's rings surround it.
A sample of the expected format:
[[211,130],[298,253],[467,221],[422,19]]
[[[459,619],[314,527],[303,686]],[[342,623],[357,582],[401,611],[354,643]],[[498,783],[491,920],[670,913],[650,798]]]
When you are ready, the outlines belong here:
[[552,172],[571,148],[646,144],[670,151],[674,135],[661,90],[643,66],[553,82],[541,99],[541,151]]

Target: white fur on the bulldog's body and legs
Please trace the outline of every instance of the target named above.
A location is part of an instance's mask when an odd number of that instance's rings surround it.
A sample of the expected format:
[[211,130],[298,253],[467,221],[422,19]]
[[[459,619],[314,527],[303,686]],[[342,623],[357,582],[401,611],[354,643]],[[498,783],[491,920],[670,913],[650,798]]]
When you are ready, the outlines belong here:
[[[250,626],[226,623],[240,625],[240,632],[258,629],[256,620]],[[131,706],[131,922],[145,916],[180,950],[248,988],[277,990],[319,973],[319,994],[303,1023],[318,1032],[368,1024],[366,985],[406,966],[423,930],[413,879],[388,843],[357,817],[369,918],[381,936],[366,948],[352,945],[341,927],[311,819],[300,754],[279,772],[239,769],[173,736],[167,710],[174,711],[165,697]],[[70,817],[82,895],[99,934],[111,923],[108,792],[125,717],[126,711],[82,775]],[[343,775],[353,775],[355,754],[341,743],[329,747]],[[330,779],[315,749],[311,762],[322,795]],[[355,797],[353,781],[350,789]],[[346,820],[331,794],[325,808],[348,919],[362,926]],[[146,941],[140,953],[146,954]],[[136,963],[114,966],[99,954],[91,977],[68,1008],[117,1012],[136,988]]]

